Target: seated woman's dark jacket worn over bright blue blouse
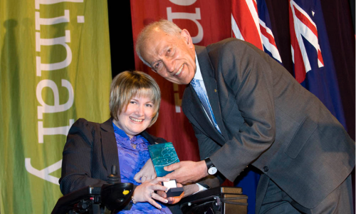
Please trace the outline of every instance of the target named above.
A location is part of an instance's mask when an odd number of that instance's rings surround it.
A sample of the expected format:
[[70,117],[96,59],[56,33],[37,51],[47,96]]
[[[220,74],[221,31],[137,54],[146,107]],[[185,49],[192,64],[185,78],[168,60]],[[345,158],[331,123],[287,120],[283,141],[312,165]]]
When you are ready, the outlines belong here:
[[[167,142],[146,131],[140,134],[150,144]],[[62,177],[59,180],[61,192],[66,195],[88,185],[107,183],[112,165],[116,165],[117,172],[120,172],[112,118],[105,123],[78,119],[69,130],[63,150]],[[172,213],[182,213],[179,208],[168,206]]]

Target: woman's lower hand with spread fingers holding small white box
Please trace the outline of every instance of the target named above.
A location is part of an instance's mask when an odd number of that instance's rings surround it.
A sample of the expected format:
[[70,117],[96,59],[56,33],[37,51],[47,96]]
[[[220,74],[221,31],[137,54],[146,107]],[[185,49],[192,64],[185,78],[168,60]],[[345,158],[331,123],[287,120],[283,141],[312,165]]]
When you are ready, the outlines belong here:
[[162,203],[168,203],[167,198],[162,198],[159,196],[157,193],[155,193],[155,190],[162,190],[162,191],[167,191],[169,188],[164,187],[161,185],[162,181],[167,181],[169,178],[162,178],[158,177],[153,180],[146,180],[144,183],[141,185],[138,185],[137,188],[135,188],[135,191],[132,195],[132,198],[136,202],[148,202],[152,205],[154,205],[156,208],[161,209],[161,205],[159,205],[155,200],[159,200]]

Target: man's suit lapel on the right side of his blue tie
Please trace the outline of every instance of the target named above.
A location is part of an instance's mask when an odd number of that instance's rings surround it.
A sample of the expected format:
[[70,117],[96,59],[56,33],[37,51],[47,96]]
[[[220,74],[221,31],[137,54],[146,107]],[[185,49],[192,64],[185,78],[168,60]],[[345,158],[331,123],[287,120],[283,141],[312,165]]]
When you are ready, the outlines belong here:
[[[216,79],[214,78],[214,68],[211,66],[209,55],[206,52],[205,47],[195,46],[195,50],[197,51],[201,76],[203,76],[203,81],[206,88],[206,93],[208,94],[211,109],[213,110],[216,123],[220,128],[221,135],[225,138],[225,140],[227,140],[227,133],[221,117],[219,94],[217,91],[218,87],[216,84]],[[211,124],[211,126],[213,125]],[[215,127],[214,131],[216,131],[216,133],[219,133],[219,131],[217,131]]]

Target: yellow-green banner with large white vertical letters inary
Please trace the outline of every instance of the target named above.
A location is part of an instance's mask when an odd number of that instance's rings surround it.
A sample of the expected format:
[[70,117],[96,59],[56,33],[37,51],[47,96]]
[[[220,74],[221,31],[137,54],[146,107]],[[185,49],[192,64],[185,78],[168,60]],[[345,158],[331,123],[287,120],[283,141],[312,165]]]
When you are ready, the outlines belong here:
[[78,118],[110,116],[107,1],[0,1],[0,213],[51,213]]

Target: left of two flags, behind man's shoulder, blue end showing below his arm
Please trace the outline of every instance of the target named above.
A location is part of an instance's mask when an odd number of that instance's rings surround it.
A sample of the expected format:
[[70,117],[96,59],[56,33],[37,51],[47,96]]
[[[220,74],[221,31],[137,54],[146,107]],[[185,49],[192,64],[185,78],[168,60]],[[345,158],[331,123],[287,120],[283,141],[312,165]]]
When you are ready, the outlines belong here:
[[[265,0],[232,0],[231,1],[232,36],[248,41],[271,57],[282,63],[272,33],[271,20]],[[251,168],[244,170],[236,178],[235,185],[248,195],[248,214],[255,213],[256,189],[260,174]]]

